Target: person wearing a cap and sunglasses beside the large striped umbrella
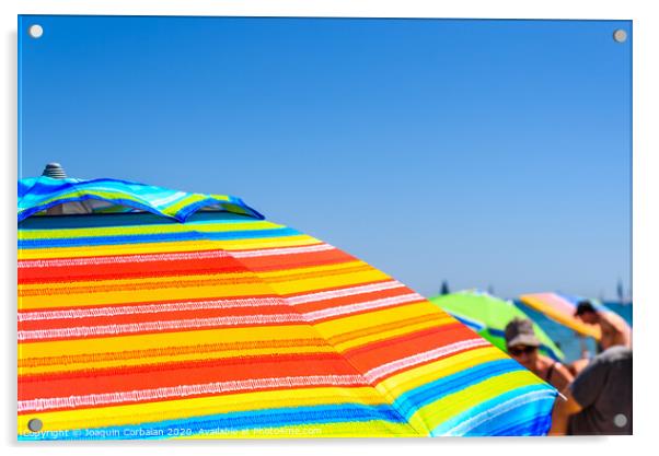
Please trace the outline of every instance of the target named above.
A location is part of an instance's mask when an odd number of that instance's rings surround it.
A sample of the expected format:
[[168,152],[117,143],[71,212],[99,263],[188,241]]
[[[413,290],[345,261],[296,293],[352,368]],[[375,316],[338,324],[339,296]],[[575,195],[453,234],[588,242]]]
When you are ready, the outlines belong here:
[[554,388],[560,391],[571,383],[573,375],[567,367],[539,353],[540,340],[530,319],[512,319],[506,326],[505,337],[506,349],[510,356]]

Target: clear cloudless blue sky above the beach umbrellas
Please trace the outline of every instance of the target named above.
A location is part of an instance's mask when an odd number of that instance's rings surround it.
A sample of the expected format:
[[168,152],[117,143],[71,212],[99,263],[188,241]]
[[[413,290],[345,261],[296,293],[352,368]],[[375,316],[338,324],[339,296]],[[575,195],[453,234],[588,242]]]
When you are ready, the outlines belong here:
[[629,21],[19,30],[22,177],[58,161],[235,195],[428,295],[443,279],[502,296],[629,285]]

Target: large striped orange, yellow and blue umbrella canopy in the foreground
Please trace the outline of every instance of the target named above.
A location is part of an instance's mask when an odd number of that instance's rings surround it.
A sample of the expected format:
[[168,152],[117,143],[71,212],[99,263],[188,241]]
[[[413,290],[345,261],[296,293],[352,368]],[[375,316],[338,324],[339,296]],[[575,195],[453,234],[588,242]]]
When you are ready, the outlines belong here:
[[555,396],[402,283],[238,198],[19,185],[22,440],[534,435]]

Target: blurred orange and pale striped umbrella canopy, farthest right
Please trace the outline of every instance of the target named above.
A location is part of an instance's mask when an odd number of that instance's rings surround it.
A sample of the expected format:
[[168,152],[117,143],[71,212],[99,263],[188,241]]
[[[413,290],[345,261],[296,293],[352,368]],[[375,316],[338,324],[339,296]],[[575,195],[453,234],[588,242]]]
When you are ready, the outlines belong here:
[[[558,293],[535,293],[520,296],[520,301],[522,303],[539,312],[542,312],[556,323],[567,326],[568,328],[574,329],[583,336],[593,337],[599,341],[602,337],[599,326],[585,324],[575,317],[577,305],[579,301],[582,300],[583,297],[580,296],[570,296]],[[596,300],[590,300],[590,302],[600,312],[613,313],[613,311]]]

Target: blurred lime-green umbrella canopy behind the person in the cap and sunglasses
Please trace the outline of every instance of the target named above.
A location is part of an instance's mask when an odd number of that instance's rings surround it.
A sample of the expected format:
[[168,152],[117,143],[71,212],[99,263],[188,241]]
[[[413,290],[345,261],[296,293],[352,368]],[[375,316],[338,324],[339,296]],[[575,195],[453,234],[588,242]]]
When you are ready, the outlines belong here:
[[[506,351],[504,331],[508,323],[516,317],[531,319],[512,302],[499,300],[484,292],[462,291],[431,297],[430,302],[504,351]],[[563,352],[535,323],[533,323],[533,330],[541,342],[540,352],[556,361],[563,361],[565,358]]]

